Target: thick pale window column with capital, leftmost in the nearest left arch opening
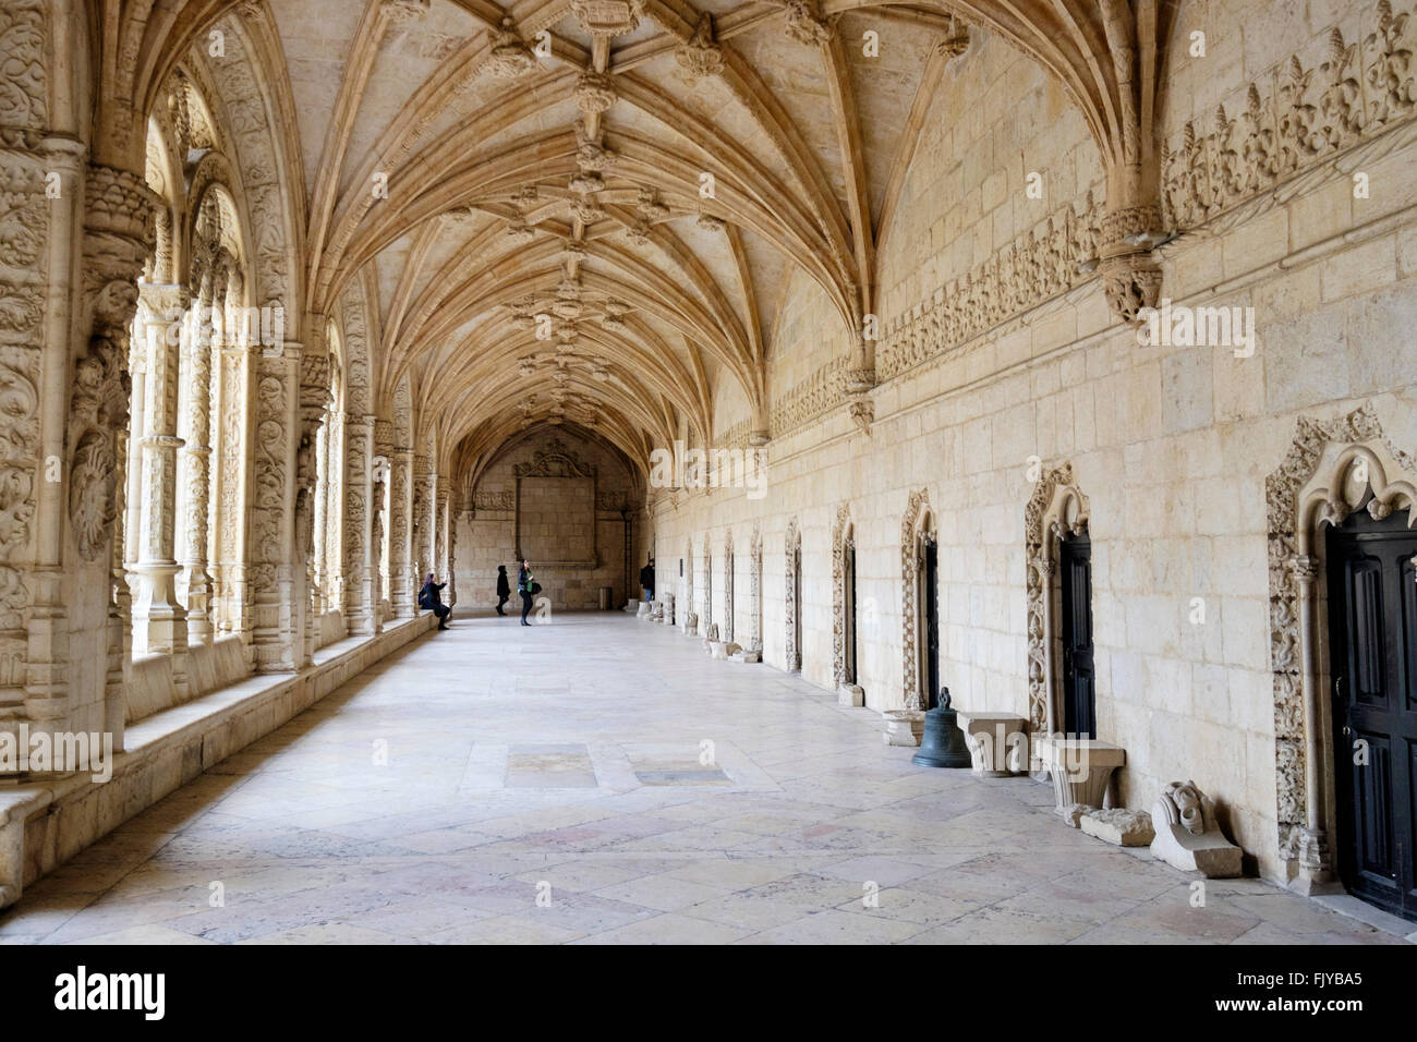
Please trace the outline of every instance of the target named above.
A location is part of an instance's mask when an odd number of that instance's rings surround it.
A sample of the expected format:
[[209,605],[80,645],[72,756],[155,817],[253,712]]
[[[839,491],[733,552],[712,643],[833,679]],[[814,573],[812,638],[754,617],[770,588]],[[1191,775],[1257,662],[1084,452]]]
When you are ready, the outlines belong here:
[[133,649],[173,655],[173,683],[179,698],[187,695],[187,610],[177,600],[176,554],[177,451],[186,441],[177,437],[177,357],[187,291],[176,285],[143,282],[139,295],[147,310],[143,323],[147,371],[143,393],[142,437],[142,525],[139,576],[133,610]]

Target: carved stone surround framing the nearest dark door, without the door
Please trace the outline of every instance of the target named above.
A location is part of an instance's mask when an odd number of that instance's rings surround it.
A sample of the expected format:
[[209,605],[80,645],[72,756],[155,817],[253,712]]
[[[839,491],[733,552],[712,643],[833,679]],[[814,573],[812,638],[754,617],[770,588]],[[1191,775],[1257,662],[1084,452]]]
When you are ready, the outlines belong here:
[[1374,520],[1407,509],[1417,520],[1417,459],[1383,434],[1372,403],[1328,422],[1301,417],[1264,482],[1270,567],[1270,668],[1280,856],[1304,883],[1333,876],[1333,740],[1322,527],[1355,509]]

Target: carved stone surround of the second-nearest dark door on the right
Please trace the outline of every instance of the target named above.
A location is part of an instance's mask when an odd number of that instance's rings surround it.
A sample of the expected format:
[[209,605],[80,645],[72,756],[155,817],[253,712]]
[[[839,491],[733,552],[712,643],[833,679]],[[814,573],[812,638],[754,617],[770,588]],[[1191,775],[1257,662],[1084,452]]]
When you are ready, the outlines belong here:
[[1088,530],[1087,496],[1077,488],[1073,465],[1066,462],[1041,475],[1023,510],[1027,557],[1029,730],[1058,730],[1058,663],[1053,648],[1057,544],[1064,532]]

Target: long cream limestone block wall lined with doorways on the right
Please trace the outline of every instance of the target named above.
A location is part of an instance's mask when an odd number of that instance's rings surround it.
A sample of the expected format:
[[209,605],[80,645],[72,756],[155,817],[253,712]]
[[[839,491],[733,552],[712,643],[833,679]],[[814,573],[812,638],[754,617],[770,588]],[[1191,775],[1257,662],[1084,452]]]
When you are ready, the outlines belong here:
[[[1335,24],[1352,41],[1377,17],[1359,4],[1306,11],[1246,26],[1248,9],[1241,17],[1238,6],[1212,6],[1214,62],[1202,69],[1183,61],[1176,72],[1180,84],[1206,84],[1196,111],[1206,111],[1203,98],[1243,99],[1251,79],[1268,98],[1284,71],[1271,68],[1275,62],[1302,51],[1304,68],[1314,68]],[[961,75],[972,61],[992,61],[992,47],[969,54]],[[1000,82],[1005,88],[979,106],[985,126],[1007,123],[1029,96],[1019,94],[1017,75]],[[1183,133],[1190,95],[1176,88],[1173,96],[1168,125]],[[1074,190],[1085,194],[1095,152],[1081,159],[1091,145],[1080,133],[1073,118],[1039,122],[1023,150],[1071,156]],[[1041,140],[1053,136],[1051,145]],[[1128,753],[1115,801],[1146,809],[1168,781],[1195,778],[1220,801],[1227,828],[1260,869],[1285,876],[1265,478],[1285,459],[1301,420],[1331,421],[1365,403],[1399,451],[1417,451],[1414,138],[1399,123],[1370,146],[1350,143],[1343,164],[1318,147],[1312,169],[1281,190],[1255,190],[1214,218],[1175,215],[1185,234],[1159,254],[1165,296],[1180,306],[1247,309],[1241,320],[1253,322],[1253,353],[1233,343],[1142,346],[1136,330],[1108,312],[1100,281],[1084,279],[983,336],[886,374],[870,396],[869,435],[842,397],[813,417],[775,415],[767,496],[751,500],[727,489],[689,495],[677,509],[663,500],[656,539],[691,540],[701,556],[706,536],[718,554],[730,530],[735,547],[761,536],[765,662],[784,668],[786,533],[798,530],[803,676],[830,686],[830,533],[846,503],[857,546],[860,683],[867,705],[884,710],[904,705],[911,655],[901,529],[911,495],[922,493],[939,542],[941,679],[961,706],[1027,717],[1024,509],[1039,472],[1070,464],[1090,506],[1098,737]],[[944,155],[951,146],[931,147]],[[921,169],[938,170],[939,162]],[[962,196],[983,197],[982,184],[969,181],[973,169],[964,160],[948,187],[917,186],[914,170],[901,220],[932,228],[958,213]],[[1366,198],[1355,197],[1355,169],[1367,174]],[[1081,210],[1083,200],[1074,204]],[[964,240],[981,234],[982,217],[948,220]],[[939,289],[962,262],[959,247],[951,250],[941,267],[932,238],[917,231],[890,241],[881,278],[887,323]],[[788,292],[815,295],[795,284]],[[792,362],[778,371],[840,357],[837,316],[791,299],[784,313],[791,318],[778,335],[789,337],[775,357]],[[714,595],[721,590],[716,578]],[[745,594],[747,584],[740,580],[735,590]],[[1196,598],[1203,621],[1193,621]],[[745,612],[747,597],[737,600]],[[716,607],[716,617],[723,610]]]

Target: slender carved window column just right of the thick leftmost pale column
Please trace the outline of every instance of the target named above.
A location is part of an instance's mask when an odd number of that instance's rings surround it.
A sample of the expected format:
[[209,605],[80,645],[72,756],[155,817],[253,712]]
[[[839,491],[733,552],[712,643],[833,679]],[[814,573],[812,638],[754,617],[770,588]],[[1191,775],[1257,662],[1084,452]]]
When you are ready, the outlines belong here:
[[[181,567],[187,573],[187,639],[211,644],[211,573],[207,561],[207,532],[211,502],[211,357],[218,350],[211,323],[215,279],[210,268],[197,284],[196,320],[187,323],[187,424],[183,431],[186,481],[183,482]],[[225,292],[222,292],[225,298]]]

